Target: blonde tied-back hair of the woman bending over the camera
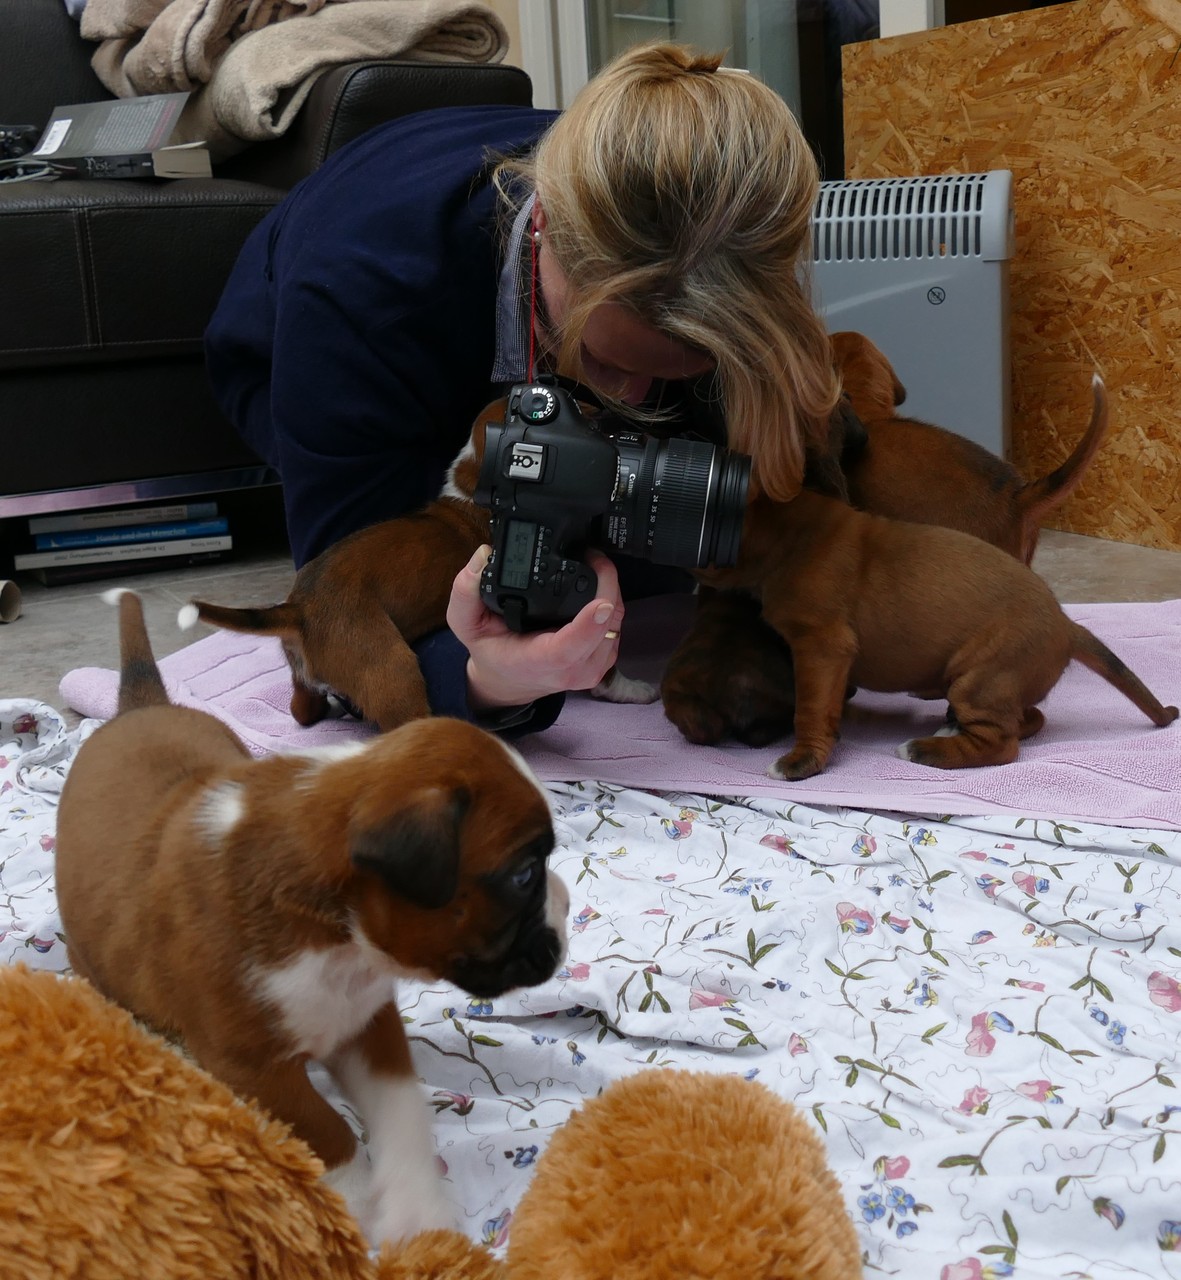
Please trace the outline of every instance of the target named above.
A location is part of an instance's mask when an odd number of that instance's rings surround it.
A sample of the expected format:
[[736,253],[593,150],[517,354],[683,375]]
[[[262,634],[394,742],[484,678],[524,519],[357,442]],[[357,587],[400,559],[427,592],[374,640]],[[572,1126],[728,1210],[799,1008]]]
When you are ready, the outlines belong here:
[[786,500],[838,396],[806,278],[819,174],[787,104],[720,63],[681,45],[627,50],[500,180],[534,184],[571,284],[559,367],[577,371],[603,302],[708,352],[727,444]]

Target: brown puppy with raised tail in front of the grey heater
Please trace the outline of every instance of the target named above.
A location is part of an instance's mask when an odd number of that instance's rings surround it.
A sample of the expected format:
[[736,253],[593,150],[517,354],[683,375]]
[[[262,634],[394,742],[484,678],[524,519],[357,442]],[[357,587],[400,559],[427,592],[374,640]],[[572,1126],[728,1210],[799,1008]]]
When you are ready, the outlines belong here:
[[1029,564],[1043,520],[1079,488],[1107,435],[1102,381],[1071,456],[1049,475],[1026,481],[975,440],[897,416],[906,389],[864,334],[834,333],[832,346],[844,393],[869,436],[846,468],[850,502],[875,516],[961,529]]

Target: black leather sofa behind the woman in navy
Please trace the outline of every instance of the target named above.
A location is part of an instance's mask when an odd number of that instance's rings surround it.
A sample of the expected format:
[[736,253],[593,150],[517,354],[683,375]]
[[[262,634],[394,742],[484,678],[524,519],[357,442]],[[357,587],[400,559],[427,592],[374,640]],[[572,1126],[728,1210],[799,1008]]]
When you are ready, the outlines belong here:
[[[0,124],[110,97],[93,49],[63,0],[0,6]],[[216,408],[201,348],[251,229],[383,120],[531,97],[514,67],[357,63],[211,179],[0,182],[0,520],[273,479]]]

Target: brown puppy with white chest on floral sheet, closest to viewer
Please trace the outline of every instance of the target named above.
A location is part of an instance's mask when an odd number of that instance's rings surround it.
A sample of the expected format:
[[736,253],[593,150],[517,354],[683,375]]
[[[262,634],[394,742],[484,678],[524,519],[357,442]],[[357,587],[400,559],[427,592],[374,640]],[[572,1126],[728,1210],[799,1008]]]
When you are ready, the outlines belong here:
[[[569,900],[546,870],[541,787],[504,742],[444,718],[255,760],[168,703],[138,596],[119,611],[119,710],[58,818],[74,970],[287,1121],[371,1240],[454,1225],[397,983],[496,996],[554,973]],[[371,1160],[308,1082],[313,1059]]]

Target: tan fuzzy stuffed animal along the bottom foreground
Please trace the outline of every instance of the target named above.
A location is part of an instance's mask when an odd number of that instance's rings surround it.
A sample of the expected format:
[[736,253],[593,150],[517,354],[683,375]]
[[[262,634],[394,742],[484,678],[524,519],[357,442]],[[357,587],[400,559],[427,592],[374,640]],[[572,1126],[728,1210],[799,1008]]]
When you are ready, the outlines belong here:
[[855,1280],[804,1117],[737,1076],[647,1070],[549,1142],[508,1257],[431,1231],[375,1262],[284,1125],[88,983],[0,970],[3,1274],[22,1280]]

